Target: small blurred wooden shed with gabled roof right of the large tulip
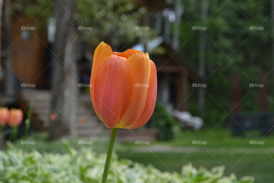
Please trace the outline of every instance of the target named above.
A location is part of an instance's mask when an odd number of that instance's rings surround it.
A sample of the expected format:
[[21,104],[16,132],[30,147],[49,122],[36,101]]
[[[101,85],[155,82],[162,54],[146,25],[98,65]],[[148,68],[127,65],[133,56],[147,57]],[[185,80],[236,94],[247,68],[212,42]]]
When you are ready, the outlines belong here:
[[[145,52],[143,44],[132,48]],[[172,49],[162,36],[148,41],[146,51],[157,69],[158,101],[170,112],[188,110],[189,83],[199,80],[195,66],[179,50]]]

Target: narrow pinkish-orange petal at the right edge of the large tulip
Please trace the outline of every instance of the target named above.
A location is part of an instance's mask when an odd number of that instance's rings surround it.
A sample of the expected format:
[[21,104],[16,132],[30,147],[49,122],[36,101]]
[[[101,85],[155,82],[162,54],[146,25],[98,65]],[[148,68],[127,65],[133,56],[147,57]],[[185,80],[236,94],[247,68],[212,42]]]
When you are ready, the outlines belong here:
[[148,89],[148,97],[146,99],[146,105],[144,107],[144,110],[139,118],[139,120],[133,124],[132,126],[128,127],[128,129],[135,129],[140,128],[148,120],[150,119],[155,103],[156,103],[156,96],[157,96],[157,75],[156,75],[156,67],[152,60],[150,60],[150,86]]

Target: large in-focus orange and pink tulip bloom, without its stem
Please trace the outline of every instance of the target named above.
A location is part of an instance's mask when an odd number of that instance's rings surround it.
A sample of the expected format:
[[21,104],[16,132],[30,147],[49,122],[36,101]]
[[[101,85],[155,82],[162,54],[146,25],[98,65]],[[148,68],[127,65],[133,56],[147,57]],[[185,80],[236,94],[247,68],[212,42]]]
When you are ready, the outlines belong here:
[[155,107],[156,67],[148,53],[112,52],[101,42],[94,52],[90,86],[92,106],[106,127],[139,128]]

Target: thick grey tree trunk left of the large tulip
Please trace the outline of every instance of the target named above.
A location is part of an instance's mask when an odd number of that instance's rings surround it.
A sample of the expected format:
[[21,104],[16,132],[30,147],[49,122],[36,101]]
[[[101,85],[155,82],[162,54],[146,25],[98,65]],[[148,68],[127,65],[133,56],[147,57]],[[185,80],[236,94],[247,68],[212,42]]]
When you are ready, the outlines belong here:
[[[76,112],[75,108],[72,109],[73,103],[69,101],[72,99],[75,92],[74,87],[76,88],[77,85],[69,83],[72,73],[68,71],[68,68],[74,67],[75,69],[76,67],[74,63],[75,51],[72,51],[74,43],[71,43],[74,39],[75,19],[73,14],[75,7],[74,0],[59,0],[55,3],[56,33],[53,45],[51,109],[54,115],[58,115],[50,122],[51,139],[60,138],[70,133],[71,120],[73,120],[71,116],[75,116]],[[70,96],[72,97],[70,98]],[[68,100],[68,98],[70,99]],[[66,110],[63,111],[63,108]]]

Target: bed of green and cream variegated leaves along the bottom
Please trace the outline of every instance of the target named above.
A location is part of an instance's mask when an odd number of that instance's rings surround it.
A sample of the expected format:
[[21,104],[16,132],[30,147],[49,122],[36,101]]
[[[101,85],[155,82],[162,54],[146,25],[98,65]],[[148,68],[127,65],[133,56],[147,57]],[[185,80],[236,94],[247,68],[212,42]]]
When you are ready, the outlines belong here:
[[[36,150],[24,152],[12,146],[0,151],[0,183],[100,183],[106,154],[97,155],[91,149],[68,149],[66,154],[41,154]],[[118,160],[114,154],[109,170],[110,183],[253,183],[253,177],[237,180],[235,174],[224,174],[224,167],[196,169],[192,164],[181,173],[161,172],[152,165]]]

